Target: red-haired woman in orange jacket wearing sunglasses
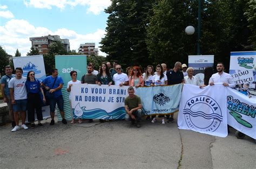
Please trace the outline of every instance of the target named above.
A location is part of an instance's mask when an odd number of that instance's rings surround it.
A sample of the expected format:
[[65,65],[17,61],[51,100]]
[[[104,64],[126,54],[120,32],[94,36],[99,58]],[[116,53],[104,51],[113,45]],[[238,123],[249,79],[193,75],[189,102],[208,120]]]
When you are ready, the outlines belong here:
[[141,87],[144,86],[142,72],[138,66],[133,66],[131,76],[129,78],[129,86]]

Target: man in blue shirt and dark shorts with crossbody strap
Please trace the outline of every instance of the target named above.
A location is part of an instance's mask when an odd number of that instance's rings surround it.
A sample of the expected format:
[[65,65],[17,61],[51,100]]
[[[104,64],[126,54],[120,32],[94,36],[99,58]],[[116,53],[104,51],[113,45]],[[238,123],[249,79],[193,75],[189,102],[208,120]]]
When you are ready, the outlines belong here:
[[51,69],[51,75],[47,76],[41,84],[46,90],[48,90],[46,92],[46,98],[50,100],[50,125],[55,124],[54,116],[56,103],[58,105],[60,115],[62,116],[62,123],[66,124],[66,119],[64,115],[64,100],[61,90],[64,82],[62,77],[58,76],[58,69]]

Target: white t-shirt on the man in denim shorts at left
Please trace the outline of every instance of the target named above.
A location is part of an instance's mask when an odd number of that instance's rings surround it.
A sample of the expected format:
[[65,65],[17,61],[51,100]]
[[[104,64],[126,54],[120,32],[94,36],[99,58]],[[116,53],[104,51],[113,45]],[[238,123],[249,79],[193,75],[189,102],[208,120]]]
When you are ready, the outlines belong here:
[[9,82],[9,88],[14,88],[14,99],[23,100],[28,98],[26,96],[26,78],[22,76],[21,79],[12,78]]

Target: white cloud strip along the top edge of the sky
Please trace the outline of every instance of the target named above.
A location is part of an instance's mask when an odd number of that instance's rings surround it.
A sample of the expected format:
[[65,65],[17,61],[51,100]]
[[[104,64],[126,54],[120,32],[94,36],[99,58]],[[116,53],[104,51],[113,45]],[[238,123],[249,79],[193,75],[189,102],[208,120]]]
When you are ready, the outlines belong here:
[[64,10],[66,6],[70,6],[71,8],[82,5],[89,6],[87,9],[88,12],[92,12],[95,15],[98,15],[101,11],[103,11],[107,6],[111,5],[110,0],[24,0],[24,4],[28,6],[32,6],[34,8],[46,8],[52,9],[53,6],[59,8],[60,10]]

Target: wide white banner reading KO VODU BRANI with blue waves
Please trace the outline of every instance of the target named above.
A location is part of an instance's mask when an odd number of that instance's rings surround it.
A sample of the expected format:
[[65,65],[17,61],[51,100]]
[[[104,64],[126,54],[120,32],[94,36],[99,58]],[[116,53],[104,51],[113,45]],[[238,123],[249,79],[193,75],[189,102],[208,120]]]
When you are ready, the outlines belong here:
[[74,118],[123,119],[124,100],[129,86],[73,85],[71,104]]

